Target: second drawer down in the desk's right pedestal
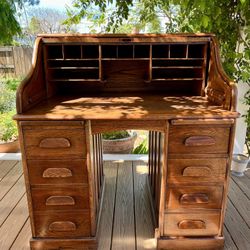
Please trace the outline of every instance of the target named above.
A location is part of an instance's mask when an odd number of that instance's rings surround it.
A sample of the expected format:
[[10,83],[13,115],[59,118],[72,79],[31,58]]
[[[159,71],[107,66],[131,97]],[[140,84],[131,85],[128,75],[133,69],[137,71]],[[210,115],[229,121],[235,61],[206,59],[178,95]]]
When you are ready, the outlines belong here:
[[168,183],[224,182],[227,158],[169,159]]

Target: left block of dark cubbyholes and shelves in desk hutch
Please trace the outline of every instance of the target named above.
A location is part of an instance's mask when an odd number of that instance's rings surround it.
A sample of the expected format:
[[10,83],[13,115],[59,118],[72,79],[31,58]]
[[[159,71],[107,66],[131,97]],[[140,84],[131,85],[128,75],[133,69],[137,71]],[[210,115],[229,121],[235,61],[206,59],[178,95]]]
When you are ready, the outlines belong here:
[[101,79],[99,45],[48,45],[47,59],[49,81],[99,81]]

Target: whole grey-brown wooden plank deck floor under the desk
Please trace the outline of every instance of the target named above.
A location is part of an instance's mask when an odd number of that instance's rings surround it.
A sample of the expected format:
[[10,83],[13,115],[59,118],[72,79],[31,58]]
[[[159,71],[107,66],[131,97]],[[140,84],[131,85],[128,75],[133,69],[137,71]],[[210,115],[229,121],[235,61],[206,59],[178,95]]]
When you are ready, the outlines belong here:
[[[155,249],[142,161],[105,162],[100,250]],[[225,220],[225,249],[250,249],[250,170],[233,177]],[[31,237],[21,163],[0,161],[0,249],[29,249]]]

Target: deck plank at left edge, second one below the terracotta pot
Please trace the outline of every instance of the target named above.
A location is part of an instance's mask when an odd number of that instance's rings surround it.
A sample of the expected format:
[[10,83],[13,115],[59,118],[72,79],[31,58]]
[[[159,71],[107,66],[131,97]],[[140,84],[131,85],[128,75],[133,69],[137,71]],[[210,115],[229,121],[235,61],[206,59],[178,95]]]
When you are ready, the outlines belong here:
[[8,193],[8,191],[15,185],[17,180],[22,175],[21,163],[17,163],[2,179],[0,188],[0,201]]

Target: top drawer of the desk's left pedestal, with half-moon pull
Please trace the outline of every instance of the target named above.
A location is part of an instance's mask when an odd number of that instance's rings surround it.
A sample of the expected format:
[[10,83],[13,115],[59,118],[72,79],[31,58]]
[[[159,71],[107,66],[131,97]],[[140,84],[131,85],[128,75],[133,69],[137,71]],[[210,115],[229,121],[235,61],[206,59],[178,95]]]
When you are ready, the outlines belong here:
[[[35,128],[35,127],[34,127]],[[23,129],[27,159],[86,158],[84,129]]]

